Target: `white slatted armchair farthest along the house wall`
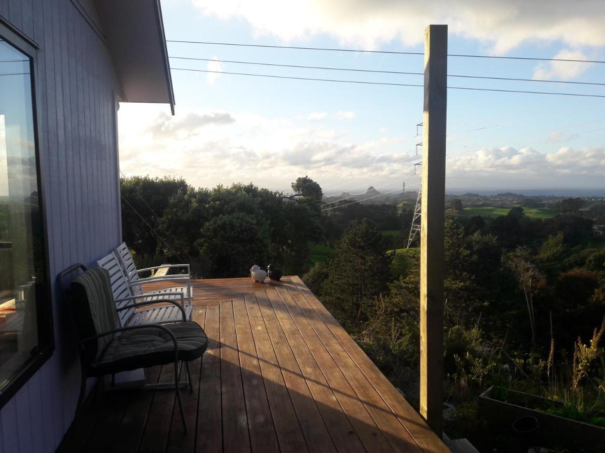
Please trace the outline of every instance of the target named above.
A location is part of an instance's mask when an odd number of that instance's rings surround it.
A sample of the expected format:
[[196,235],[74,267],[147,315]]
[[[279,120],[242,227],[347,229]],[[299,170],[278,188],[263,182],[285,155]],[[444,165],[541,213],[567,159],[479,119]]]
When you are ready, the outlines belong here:
[[[183,292],[183,293],[185,293],[185,298],[187,298],[188,302],[191,304],[191,299],[193,297],[193,294],[192,294],[192,289],[191,289],[191,272],[189,272],[188,264],[180,264],[180,265],[163,264],[160,266],[153,266],[151,268],[137,269],[137,266],[134,264],[134,260],[132,259],[130,250],[128,249],[128,246],[126,245],[125,242],[122,242],[122,245],[120,245],[118,248],[116,248],[116,255],[117,255],[118,259],[120,260],[120,265],[122,266],[124,274],[126,275],[126,279],[130,283],[132,283],[132,294],[134,294],[134,295],[143,294],[143,288],[141,286],[141,283],[143,283],[143,282],[174,281],[174,280],[186,281],[186,283],[187,283],[186,288],[171,288],[171,289],[166,289],[165,292],[171,292],[171,291]],[[178,268],[185,268],[187,270],[187,273],[186,274],[174,274],[174,275],[167,275],[167,274],[163,273],[165,271],[168,271],[169,269],[178,269]],[[150,271],[154,274],[154,275],[152,275],[152,277],[145,278],[145,279],[142,279],[139,277],[140,272],[150,272]],[[159,275],[158,271],[161,272],[161,275]],[[185,280],[183,280],[183,279],[185,279]]]

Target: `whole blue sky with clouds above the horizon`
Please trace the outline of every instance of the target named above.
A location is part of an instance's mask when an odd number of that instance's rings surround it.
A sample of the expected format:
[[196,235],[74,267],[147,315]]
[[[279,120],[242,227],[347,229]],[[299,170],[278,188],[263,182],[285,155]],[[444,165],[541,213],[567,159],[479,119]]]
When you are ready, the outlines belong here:
[[[169,41],[422,52],[425,27],[447,24],[450,54],[605,60],[601,0],[162,0],[162,12]],[[417,189],[422,87],[182,69],[422,85],[417,75],[217,60],[423,72],[424,57],[177,42],[168,53],[175,115],[120,104],[125,175],[272,190],[309,175],[327,194]],[[449,57],[448,74],[605,84],[604,63]],[[605,95],[605,85],[571,83],[448,77],[448,86]],[[447,191],[605,190],[605,97],[450,88],[447,122]]]

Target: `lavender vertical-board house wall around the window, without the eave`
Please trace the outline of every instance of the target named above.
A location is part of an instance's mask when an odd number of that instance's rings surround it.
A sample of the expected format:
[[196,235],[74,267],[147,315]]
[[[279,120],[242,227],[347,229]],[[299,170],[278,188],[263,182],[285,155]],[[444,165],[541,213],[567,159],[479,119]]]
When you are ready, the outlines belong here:
[[119,85],[87,10],[94,11],[91,1],[0,0],[0,15],[40,46],[39,139],[56,342],[51,359],[0,410],[0,453],[54,451],[70,426],[80,370],[54,279],[73,263],[93,265],[121,239]]

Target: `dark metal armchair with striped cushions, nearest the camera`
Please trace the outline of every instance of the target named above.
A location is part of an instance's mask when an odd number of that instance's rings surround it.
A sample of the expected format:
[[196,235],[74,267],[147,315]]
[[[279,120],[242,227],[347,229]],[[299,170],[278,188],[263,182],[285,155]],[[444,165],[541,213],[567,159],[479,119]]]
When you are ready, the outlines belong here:
[[[178,361],[185,362],[189,375],[188,362],[200,358],[208,347],[208,337],[204,330],[197,323],[187,321],[185,310],[174,301],[166,302],[180,309],[180,323],[122,327],[118,315],[120,310],[133,309],[157,301],[133,303],[117,308],[111,291],[109,272],[103,268],[87,269],[82,264],[73,265],[57,276],[60,288],[64,288],[65,277],[77,269],[81,269],[82,274],[71,282],[70,294],[64,291],[70,300],[74,325],[79,336],[82,380],[76,419],[88,377],[174,363],[174,388],[183,429],[187,432],[179,389]],[[191,386],[191,376],[189,384]]]

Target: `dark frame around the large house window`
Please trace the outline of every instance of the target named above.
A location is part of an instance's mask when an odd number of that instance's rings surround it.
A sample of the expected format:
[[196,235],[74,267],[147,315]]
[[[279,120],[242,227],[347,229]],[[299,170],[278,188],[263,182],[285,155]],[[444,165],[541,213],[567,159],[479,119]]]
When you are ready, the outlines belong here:
[[3,390],[0,390],[0,410],[21,389],[30,378],[53,356],[54,353],[54,327],[53,327],[53,298],[50,281],[50,265],[48,253],[47,211],[45,204],[44,165],[42,158],[42,142],[40,128],[42,124],[40,94],[38,92],[38,56],[39,46],[30,38],[16,30],[10,22],[0,16],[0,37],[8,45],[25,54],[30,59],[31,83],[31,111],[33,118],[33,133],[36,153],[36,179],[38,182],[38,206],[41,223],[42,239],[42,272],[44,281],[36,288],[36,323],[38,327],[37,351],[19,367],[13,376],[8,379]]

